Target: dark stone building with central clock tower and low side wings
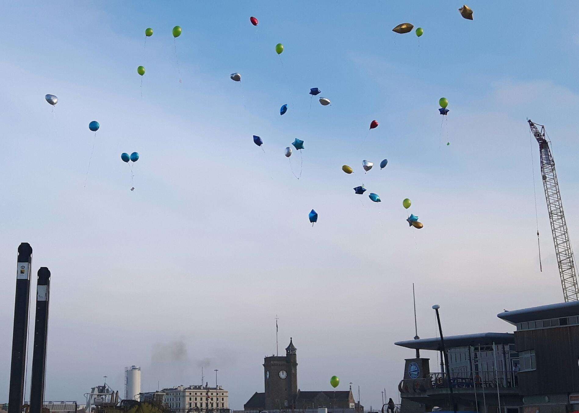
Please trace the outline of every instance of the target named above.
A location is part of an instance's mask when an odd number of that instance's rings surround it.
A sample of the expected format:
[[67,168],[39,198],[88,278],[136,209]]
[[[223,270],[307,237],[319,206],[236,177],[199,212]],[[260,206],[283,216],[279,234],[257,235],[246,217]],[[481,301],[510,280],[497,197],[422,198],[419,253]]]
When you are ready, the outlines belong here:
[[290,338],[285,356],[270,356],[263,359],[263,386],[265,392],[254,393],[243,405],[245,411],[272,411],[287,409],[317,409],[354,411],[352,390],[302,392],[298,388],[297,349]]

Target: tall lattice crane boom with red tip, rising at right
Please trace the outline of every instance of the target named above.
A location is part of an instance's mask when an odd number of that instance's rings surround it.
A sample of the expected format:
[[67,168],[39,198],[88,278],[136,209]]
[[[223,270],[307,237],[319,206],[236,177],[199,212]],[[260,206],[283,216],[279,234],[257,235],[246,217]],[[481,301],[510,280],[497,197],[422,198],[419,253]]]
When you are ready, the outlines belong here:
[[[569,233],[567,231],[567,223],[565,222],[559,182],[557,180],[557,172],[555,171],[555,161],[551,154],[551,148],[549,148],[549,141],[545,139],[545,127],[533,123],[530,120],[527,121],[529,122],[532,134],[539,143],[541,176],[543,178],[543,188],[545,190],[549,221],[551,222],[551,232],[553,233],[553,242],[555,244],[555,255],[557,256],[559,275],[563,287],[563,297],[565,297],[565,301],[578,301],[579,288],[577,287],[577,271],[573,258],[573,249],[571,248],[571,241],[569,240]],[[541,131],[538,130],[538,126],[541,127]]]

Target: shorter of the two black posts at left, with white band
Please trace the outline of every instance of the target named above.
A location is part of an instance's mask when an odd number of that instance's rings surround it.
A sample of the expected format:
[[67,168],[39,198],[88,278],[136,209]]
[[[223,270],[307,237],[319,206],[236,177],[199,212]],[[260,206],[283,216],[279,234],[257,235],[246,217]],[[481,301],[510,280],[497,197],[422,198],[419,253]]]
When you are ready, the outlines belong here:
[[46,267],[41,267],[38,270],[38,282],[36,283],[36,318],[34,322],[34,350],[32,352],[30,413],[41,413],[44,401],[49,300],[50,271]]

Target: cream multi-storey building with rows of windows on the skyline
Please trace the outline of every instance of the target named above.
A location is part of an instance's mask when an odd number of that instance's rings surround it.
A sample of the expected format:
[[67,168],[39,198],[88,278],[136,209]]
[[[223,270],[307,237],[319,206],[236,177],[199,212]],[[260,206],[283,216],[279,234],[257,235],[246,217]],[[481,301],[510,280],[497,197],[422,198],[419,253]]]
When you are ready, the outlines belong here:
[[229,412],[229,393],[221,386],[177,386],[162,393],[165,404],[175,412]]

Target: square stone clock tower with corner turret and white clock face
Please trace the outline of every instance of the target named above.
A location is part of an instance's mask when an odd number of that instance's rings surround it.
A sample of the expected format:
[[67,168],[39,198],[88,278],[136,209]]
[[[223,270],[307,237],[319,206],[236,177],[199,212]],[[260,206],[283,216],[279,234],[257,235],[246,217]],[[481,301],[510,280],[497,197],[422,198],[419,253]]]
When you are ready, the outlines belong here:
[[290,338],[285,348],[285,356],[271,356],[263,359],[263,379],[265,381],[265,408],[283,409],[292,407],[298,394],[297,349]]

